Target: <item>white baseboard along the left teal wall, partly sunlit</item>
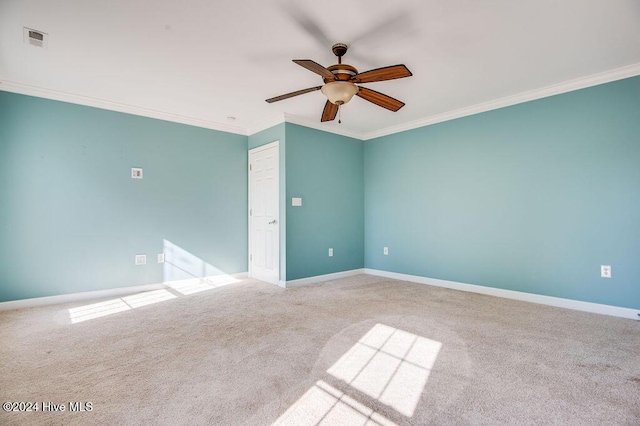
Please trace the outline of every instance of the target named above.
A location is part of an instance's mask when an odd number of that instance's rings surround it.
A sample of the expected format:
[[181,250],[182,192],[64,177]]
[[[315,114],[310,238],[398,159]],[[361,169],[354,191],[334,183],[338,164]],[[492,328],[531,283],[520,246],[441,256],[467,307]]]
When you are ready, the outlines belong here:
[[[228,276],[235,279],[247,277],[246,272],[237,274],[229,274]],[[171,283],[189,283],[194,280],[212,280],[216,281],[220,275],[202,278],[190,278],[187,280],[171,281]],[[81,302],[90,299],[105,299],[108,297],[120,297],[128,294],[142,293],[144,291],[161,290],[169,288],[167,283],[143,284],[131,287],[110,288],[105,290],[84,291],[82,293],[61,294],[58,296],[35,297],[32,299],[12,300],[9,302],[0,302],[0,311],[8,311],[12,309],[34,308],[36,306],[57,305],[59,303]]]

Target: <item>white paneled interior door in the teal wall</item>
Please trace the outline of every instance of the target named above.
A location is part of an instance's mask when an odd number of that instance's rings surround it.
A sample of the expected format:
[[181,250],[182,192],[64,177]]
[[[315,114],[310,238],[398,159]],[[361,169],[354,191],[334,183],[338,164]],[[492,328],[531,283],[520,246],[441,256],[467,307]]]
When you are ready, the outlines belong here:
[[279,144],[249,151],[249,276],[280,278]]

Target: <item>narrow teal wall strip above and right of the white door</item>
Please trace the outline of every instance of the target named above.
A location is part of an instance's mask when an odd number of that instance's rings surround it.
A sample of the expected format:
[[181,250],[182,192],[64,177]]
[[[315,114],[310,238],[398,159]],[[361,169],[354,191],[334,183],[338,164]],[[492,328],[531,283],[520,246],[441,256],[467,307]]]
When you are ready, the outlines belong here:
[[281,123],[276,126],[265,129],[261,132],[254,133],[249,136],[249,149],[257,148],[262,145],[269,144],[271,142],[278,141],[279,146],[279,196],[280,196],[280,281],[287,280],[287,200],[284,194],[286,193],[286,134],[285,124]]

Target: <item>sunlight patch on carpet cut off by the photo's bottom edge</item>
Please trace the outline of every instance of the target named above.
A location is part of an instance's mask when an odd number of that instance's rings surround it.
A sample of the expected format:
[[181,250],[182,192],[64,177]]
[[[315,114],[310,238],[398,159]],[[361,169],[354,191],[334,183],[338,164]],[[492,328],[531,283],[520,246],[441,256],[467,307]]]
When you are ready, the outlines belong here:
[[306,425],[395,426],[395,423],[319,380],[273,426]]

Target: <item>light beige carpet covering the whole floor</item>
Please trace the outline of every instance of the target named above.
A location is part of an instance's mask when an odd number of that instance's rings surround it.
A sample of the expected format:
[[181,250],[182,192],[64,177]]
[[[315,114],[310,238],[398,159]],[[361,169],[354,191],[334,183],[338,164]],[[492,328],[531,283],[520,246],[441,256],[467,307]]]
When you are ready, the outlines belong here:
[[123,299],[0,313],[40,405],[0,424],[640,424],[637,321],[367,275]]

